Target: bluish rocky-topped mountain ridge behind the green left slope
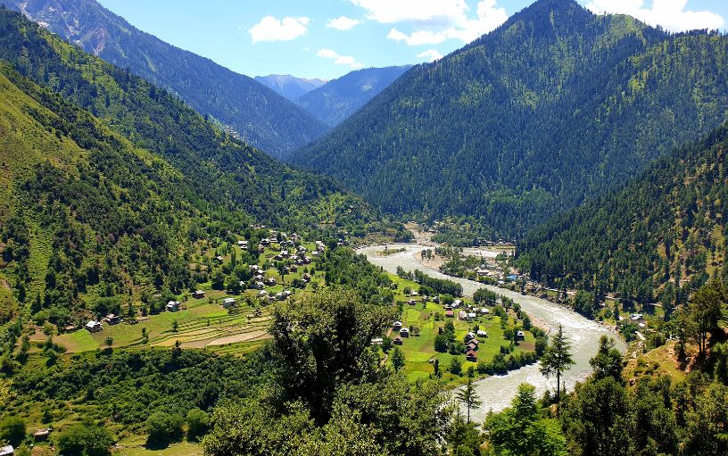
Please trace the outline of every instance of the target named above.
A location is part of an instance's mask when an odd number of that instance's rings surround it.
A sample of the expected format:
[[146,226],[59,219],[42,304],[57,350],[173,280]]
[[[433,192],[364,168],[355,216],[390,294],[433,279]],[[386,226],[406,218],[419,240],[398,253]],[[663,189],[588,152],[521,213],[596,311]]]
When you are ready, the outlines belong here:
[[95,0],[7,0],[71,43],[165,87],[197,112],[274,156],[320,136],[308,112],[247,76],[136,29]]

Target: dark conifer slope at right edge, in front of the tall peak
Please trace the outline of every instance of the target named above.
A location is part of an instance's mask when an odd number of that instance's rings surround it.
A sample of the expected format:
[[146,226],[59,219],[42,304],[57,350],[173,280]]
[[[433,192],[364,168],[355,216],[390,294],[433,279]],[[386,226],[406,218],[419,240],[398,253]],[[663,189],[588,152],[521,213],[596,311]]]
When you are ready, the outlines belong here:
[[728,278],[726,214],[728,124],[621,190],[535,229],[521,256],[531,277],[551,286],[659,299],[672,308],[710,276]]

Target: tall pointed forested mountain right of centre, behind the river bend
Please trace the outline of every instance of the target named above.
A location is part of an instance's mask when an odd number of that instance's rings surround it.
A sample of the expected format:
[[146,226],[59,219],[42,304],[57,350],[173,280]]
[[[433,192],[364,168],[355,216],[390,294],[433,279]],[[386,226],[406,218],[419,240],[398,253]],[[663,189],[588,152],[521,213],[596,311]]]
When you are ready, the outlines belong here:
[[726,54],[717,33],[539,0],[409,70],[291,160],[384,211],[469,215],[519,237],[715,129]]

